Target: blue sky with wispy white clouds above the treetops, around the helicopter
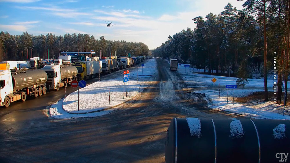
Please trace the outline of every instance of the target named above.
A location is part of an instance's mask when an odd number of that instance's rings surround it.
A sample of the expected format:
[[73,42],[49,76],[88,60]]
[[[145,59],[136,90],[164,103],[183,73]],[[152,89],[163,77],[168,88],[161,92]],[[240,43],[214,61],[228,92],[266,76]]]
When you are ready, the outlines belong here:
[[[194,17],[219,14],[236,0],[0,0],[0,31],[12,35],[87,33],[99,39],[143,42],[149,49],[187,27]],[[115,26],[107,27],[104,21]]]

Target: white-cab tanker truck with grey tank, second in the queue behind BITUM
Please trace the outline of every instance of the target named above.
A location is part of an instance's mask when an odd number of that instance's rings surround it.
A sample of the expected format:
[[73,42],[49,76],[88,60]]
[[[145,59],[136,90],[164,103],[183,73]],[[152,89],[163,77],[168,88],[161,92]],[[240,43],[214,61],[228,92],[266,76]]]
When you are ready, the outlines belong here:
[[66,88],[73,80],[77,80],[75,66],[45,65],[42,69],[47,73],[47,87],[53,90]]

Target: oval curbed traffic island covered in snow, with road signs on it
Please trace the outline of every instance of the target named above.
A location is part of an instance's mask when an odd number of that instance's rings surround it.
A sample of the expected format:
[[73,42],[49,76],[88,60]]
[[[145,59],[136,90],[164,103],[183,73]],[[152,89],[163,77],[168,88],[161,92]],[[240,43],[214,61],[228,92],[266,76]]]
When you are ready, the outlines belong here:
[[63,109],[69,113],[89,113],[110,108],[135,97],[138,91],[143,89],[140,86],[140,82],[130,80],[128,82],[126,97],[125,83],[125,99],[123,99],[124,83],[122,78],[95,82],[85,88],[79,89],[79,111],[77,107],[77,91],[66,97],[66,101],[63,101]]

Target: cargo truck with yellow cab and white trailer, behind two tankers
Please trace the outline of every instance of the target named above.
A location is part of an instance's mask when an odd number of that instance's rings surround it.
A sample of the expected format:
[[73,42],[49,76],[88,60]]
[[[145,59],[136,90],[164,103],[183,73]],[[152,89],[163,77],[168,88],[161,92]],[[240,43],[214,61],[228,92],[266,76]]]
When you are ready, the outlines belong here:
[[83,61],[73,64],[77,68],[79,80],[92,79],[102,73],[102,61]]

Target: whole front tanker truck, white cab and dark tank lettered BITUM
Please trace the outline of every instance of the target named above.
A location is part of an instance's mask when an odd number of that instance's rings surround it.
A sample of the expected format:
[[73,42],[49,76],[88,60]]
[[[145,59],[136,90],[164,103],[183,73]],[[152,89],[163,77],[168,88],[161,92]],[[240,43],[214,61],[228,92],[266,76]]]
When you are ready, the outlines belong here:
[[25,101],[27,95],[46,94],[47,74],[44,70],[28,70],[13,73],[11,70],[0,71],[0,106],[10,106],[11,102]]

